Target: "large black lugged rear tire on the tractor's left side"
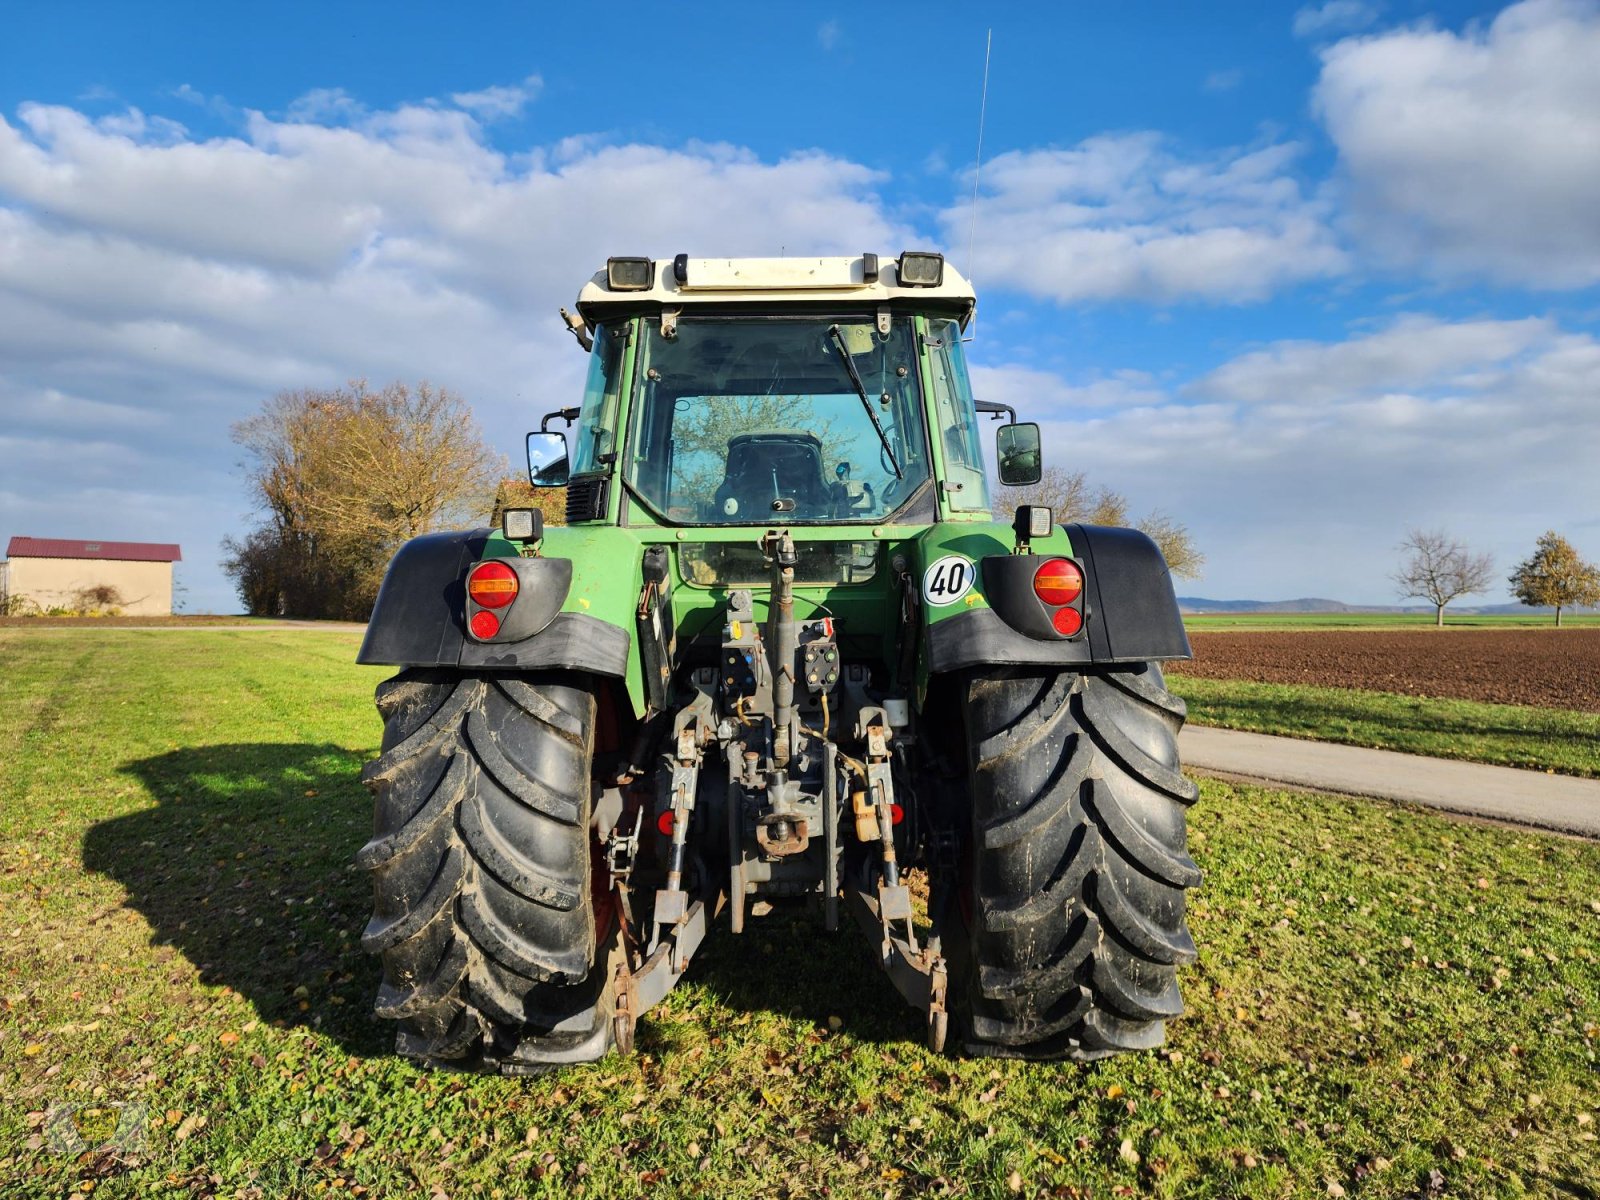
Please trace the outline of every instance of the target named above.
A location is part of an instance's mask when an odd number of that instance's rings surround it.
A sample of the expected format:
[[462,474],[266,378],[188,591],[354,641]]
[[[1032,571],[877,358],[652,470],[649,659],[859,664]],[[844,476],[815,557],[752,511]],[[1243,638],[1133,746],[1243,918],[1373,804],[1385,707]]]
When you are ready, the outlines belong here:
[[374,834],[355,858],[373,877],[376,1013],[400,1022],[398,1053],[475,1066],[570,1024],[606,984],[592,970],[606,933],[590,893],[595,696],[574,675],[411,669],[376,701]]

